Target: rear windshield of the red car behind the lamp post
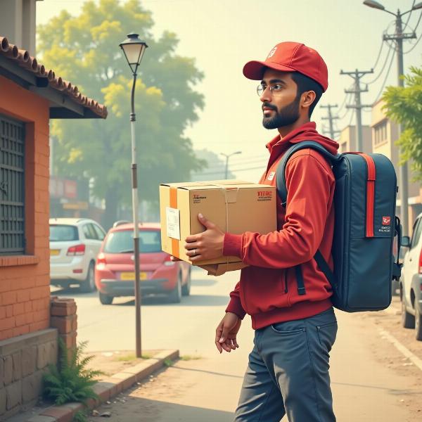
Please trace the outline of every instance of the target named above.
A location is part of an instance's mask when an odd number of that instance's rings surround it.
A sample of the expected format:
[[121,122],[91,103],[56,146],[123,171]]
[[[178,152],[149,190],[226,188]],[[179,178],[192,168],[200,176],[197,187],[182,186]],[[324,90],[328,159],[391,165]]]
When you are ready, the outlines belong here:
[[[161,252],[161,237],[158,230],[139,231],[139,250],[141,253]],[[129,253],[134,251],[132,230],[113,231],[107,236],[104,252]]]

